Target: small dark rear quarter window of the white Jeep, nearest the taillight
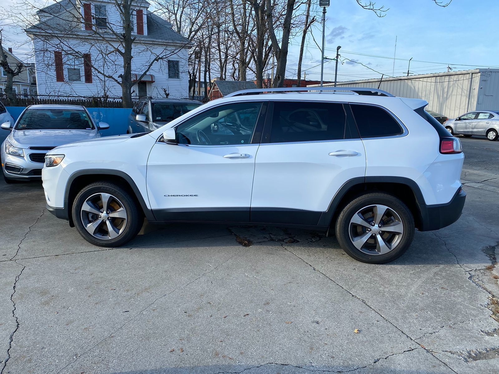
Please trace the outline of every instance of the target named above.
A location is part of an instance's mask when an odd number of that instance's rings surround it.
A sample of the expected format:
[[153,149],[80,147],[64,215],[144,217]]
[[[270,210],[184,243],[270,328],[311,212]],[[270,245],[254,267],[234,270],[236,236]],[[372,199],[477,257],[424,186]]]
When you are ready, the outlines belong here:
[[378,138],[404,133],[386,110],[372,105],[350,104],[361,138]]

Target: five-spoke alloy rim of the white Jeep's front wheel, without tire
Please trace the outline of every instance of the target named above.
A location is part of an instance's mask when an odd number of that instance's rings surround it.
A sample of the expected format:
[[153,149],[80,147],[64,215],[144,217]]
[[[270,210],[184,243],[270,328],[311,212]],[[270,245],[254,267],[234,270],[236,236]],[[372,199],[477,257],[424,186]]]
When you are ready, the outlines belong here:
[[110,193],[94,193],[81,206],[83,227],[97,239],[117,238],[125,229],[127,219],[123,203]]

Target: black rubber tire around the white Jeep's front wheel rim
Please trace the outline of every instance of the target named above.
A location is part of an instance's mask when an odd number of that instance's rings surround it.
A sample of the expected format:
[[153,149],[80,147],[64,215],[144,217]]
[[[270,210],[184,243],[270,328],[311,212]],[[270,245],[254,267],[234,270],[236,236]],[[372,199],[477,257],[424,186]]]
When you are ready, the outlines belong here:
[[[120,234],[113,239],[99,239],[85,229],[81,208],[87,198],[97,193],[109,193],[116,197],[126,211],[127,219],[124,227]],[[104,181],[92,183],[78,192],[72,206],[72,217],[80,235],[89,243],[100,247],[119,247],[127,243],[138,234],[144,223],[144,215],[138,209],[137,203],[130,193],[114,183]]]

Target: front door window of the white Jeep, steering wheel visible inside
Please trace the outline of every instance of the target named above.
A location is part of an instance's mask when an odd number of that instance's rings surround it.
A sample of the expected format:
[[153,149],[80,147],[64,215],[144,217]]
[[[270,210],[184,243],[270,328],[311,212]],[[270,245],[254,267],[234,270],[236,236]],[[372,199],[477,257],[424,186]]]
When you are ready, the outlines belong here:
[[261,103],[234,103],[209,109],[176,128],[180,144],[250,144]]

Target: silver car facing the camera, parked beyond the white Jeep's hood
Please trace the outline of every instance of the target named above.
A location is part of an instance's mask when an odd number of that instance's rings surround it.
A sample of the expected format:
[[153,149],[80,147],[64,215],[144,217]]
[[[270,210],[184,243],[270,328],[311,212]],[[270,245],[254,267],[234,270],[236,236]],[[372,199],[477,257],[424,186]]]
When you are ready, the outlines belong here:
[[[13,120],[12,120],[13,121]],[[31,105],[15,124],[3,122],[10,131],[0,147],[3,179],[6,183],[41,178],[45,154],[62,144],[99,138],[99,130],[85,107],[80,105]]]

